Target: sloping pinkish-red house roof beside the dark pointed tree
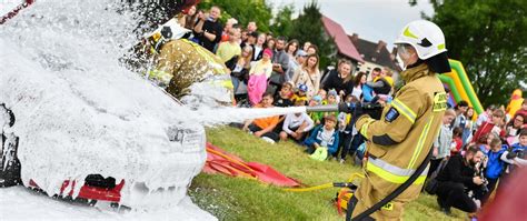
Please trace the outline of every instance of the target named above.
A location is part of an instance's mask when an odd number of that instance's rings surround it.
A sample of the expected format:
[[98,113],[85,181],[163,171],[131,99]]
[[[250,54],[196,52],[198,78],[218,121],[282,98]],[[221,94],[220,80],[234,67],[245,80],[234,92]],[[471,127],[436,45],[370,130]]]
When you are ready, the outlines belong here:
[[335,44],[337,44],[337,49],[341,54],[358,62],[364,62],[354,43],[351,43],[351,40],[348,38],[348,34],[346,34],[346,31],[344,31],[339,23],[335,22],[328,17],[322,16],[322,24],[328,36],[335,39]]

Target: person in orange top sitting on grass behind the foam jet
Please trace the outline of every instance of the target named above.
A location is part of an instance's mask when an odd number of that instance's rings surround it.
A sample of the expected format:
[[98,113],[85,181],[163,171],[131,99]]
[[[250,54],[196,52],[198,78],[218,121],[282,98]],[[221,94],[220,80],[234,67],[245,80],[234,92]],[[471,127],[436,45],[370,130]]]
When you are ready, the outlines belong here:
[[[272,108],[272,94],[265,93],[261,102],[255,106],[255,108]],[[278,135],[272,132],[278,123],[278,115],[259,118],[255,120],[248,120],[245,122],[243,130],[251,132],[257,138],[275,143],[278,141]]]

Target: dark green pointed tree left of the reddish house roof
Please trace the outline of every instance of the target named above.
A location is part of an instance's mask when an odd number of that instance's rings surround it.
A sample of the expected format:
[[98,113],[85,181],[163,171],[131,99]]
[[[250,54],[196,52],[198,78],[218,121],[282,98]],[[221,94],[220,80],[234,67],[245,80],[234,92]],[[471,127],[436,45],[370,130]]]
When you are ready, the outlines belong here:
[[320,56],[320,67],[326,67],[331,61],[336,47],[332,39],[326,34],[321,19],[320,7],[316,0],[306,4],[304,11],[292,21],[289,39],[315,43]]

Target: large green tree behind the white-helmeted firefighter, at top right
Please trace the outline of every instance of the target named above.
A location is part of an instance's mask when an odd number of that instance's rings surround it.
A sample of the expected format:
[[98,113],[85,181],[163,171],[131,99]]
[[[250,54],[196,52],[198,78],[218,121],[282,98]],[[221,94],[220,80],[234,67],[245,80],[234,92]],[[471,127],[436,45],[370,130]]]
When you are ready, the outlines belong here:
[[[410,0],[410,4],[412,0]],[[524,0],[431,0],[449,58],[467,69],[483,104],[501,103],[514,89],[526,91],[527,4]]]

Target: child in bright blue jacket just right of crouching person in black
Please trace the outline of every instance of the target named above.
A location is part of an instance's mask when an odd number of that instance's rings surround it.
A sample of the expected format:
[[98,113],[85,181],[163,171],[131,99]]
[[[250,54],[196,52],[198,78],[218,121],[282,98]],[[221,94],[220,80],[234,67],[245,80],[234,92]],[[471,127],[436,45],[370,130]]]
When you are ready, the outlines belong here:
[[501,177],[506,165],[505,161],[500,159],[501,154],[505,152],[505,149],[501,147],[501,140],[499,138],[494,138],[489,144],[490,151],[487,153],[487,158],[484,160],[485,178],[488,181],[488,191],[481,198],[481,207],[487,202],[488,198],[496,188],[498,179]]

